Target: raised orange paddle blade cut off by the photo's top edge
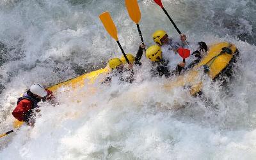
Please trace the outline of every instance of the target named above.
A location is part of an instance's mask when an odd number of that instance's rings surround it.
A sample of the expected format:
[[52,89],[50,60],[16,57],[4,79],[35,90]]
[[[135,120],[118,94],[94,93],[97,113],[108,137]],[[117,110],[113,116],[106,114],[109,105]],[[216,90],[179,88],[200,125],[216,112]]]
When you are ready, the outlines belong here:
[[139,24],[141,13],[137,0],[125,0],[125,5],[132,21]]

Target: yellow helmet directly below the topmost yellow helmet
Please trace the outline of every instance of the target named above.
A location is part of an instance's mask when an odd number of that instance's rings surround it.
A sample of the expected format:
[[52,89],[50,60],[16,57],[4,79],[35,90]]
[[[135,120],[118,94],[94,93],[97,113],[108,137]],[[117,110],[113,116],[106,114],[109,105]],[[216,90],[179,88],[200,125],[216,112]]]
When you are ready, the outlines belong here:
[[152,45],[146,50],[146,57],[152,62],[160,61],[162,59],[162,50],[159,45]]

